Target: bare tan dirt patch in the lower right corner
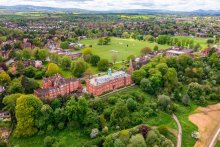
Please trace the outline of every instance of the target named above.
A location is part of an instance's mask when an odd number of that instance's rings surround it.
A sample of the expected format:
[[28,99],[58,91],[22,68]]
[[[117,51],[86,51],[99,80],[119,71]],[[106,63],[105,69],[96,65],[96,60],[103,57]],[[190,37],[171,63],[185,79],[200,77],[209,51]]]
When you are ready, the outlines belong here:
[[219,129],[220,103],[207,107],[198,107],[189,120],[198,126],[200,139],[194,147],[209,147]]

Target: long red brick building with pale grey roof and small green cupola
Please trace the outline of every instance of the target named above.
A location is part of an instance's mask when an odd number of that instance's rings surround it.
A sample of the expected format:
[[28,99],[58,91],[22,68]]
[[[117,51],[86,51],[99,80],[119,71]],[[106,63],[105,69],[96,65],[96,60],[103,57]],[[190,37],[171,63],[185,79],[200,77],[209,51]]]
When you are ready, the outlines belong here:
[[132,84],[131,75],[124,71],[93,78],[87,81],[86,90],[95,96]]

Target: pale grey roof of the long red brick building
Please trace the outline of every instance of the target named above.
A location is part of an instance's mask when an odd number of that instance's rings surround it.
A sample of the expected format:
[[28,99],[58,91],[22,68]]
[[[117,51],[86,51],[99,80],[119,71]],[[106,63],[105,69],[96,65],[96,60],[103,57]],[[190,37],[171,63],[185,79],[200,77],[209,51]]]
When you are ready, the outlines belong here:
[[105,75],[105,76],[101,76],[101,77],[97,77],[97,78],[93,78],[90,80],[90,83],[94,86],[99,86],[102,85],[106,82],[115,80],[115,79],[119,79],[119,78],[124,78],[124,77],[128,77],[129,74],[127,74],[124,71],[118,71],[115,73],[112,73],[112,75]]

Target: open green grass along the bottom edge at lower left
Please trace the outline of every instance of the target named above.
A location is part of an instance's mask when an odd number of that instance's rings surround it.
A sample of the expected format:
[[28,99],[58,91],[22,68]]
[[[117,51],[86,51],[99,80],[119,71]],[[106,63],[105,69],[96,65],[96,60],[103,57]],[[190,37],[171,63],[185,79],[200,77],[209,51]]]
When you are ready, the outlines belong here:
[[[85,142],[89,141],[90,138],[86,137],[81,133],[82,130],[63,130],[56,131],[52,134],[48,134],[48,136],[54,136],[60,140],[65,146],[68,147],[81,147]],[[12,146],[19,147],[43,147],[44,146],[44,138],[46,135],[42,136],[33,136],[30,138],[11,138],[10,143]]]

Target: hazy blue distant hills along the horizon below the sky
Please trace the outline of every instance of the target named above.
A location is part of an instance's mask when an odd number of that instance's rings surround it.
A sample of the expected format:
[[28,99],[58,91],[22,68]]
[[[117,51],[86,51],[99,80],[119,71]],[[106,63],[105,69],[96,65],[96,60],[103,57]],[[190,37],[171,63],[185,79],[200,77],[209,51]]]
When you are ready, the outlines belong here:
[[93,11],[78,8],[55,8],[32,5],[0,6],[0,10],[12,12],[81,12],[81,13],[136,13],[136,14],[186,14],[186,15],[220,15],[220,10],[196,10],[191,12],[170,11],[160,9],[126,9],[110,11]]

